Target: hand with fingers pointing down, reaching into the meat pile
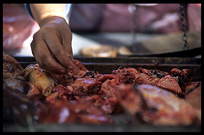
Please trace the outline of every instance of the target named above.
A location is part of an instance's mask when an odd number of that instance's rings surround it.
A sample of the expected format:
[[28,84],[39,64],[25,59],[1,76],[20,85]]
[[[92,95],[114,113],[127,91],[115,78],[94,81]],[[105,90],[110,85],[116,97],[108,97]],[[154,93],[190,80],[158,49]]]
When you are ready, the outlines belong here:
[[73,69],[72,32],[66,20],[51,16],[39,25],[40,29],[31,42],[32,53],[39,66],[55,74]]

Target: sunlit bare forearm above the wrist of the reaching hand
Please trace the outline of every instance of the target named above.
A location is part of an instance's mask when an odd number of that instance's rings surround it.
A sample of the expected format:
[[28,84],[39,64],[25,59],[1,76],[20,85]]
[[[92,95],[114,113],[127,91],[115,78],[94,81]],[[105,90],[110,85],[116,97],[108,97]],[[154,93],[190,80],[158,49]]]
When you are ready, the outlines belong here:
[[39,26],[43,20],[51,16],[59,16],[65,18],[66,4],[30,4],[33,18],[38,22]]

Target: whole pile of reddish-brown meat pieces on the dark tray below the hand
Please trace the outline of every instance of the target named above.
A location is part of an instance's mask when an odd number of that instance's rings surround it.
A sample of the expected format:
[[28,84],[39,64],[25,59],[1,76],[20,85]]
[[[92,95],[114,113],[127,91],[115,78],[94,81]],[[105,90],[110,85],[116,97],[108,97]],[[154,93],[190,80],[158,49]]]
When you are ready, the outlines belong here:
[[38,64],[23,69],[4,55],[4,123],[116,124],[112,116],[125,114],[130,123],[201,124],[201,98],[187,100],[201,91],[201,82],[192,82],[188,69],[120,67],[100,74],[78,60],[74,64],[77,69],[56,75]]

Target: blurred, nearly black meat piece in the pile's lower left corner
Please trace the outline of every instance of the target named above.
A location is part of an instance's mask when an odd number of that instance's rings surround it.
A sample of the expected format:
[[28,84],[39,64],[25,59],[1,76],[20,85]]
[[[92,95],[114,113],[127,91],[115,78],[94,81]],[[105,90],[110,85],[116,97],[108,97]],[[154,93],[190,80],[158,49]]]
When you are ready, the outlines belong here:
[[27,126],[29,118],[34,120],[34,104],[23,92],[29,84],[22,87],[15,81],[3,80],[3,122]]

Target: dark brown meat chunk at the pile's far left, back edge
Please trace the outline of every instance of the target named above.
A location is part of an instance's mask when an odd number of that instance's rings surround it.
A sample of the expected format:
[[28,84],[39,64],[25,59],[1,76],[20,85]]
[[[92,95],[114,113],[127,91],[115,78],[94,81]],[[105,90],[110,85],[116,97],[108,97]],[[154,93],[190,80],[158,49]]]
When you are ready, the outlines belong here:
[[3,54],[3,79],[16,78],[23,74],[23,67],[11,55]]

